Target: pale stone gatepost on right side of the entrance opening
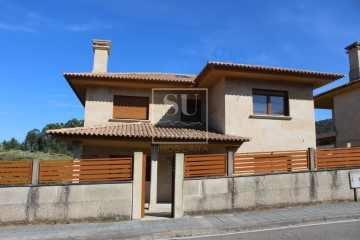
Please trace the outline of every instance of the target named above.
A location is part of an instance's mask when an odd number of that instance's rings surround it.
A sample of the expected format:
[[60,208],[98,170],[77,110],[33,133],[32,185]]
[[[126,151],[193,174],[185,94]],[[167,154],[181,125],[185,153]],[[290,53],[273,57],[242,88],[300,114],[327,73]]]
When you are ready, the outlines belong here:
[[183,183],[184,183],[184,154],[175,155],[175,196],[174,196],[174,218],[184,216],[183,204]]

